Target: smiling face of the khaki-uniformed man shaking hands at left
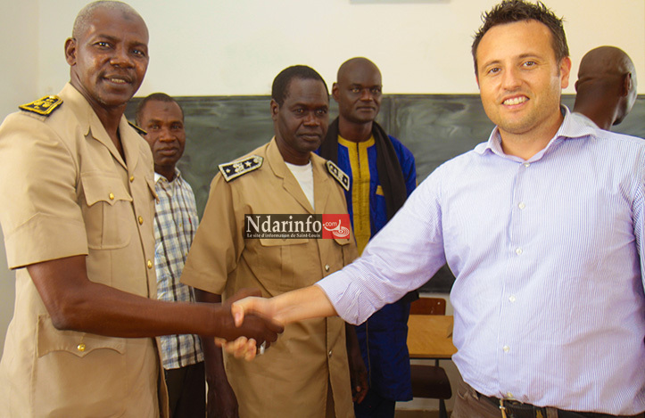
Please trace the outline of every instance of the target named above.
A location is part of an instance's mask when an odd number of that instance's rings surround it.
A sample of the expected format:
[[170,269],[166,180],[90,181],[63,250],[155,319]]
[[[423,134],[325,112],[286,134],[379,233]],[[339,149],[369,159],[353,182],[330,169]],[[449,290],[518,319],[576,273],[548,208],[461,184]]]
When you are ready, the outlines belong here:
[[148,29],[141,17],[98,8],[87,27],[65,43],[71,85],[95,111],[125,107],[148,67]]

